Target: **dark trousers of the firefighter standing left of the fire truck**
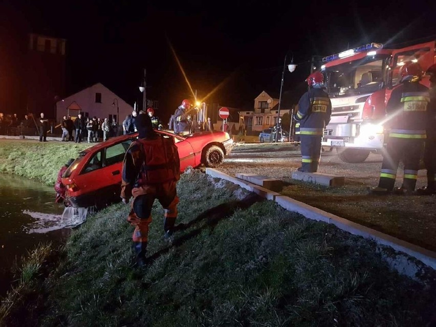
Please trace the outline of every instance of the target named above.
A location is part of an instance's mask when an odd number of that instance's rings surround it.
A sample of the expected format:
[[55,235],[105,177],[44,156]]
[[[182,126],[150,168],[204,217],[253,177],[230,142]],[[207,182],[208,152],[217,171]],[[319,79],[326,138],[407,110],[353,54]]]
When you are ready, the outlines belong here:
[[316,172],[321,157],[322,136],[300,134],[301,168],[299,171]]

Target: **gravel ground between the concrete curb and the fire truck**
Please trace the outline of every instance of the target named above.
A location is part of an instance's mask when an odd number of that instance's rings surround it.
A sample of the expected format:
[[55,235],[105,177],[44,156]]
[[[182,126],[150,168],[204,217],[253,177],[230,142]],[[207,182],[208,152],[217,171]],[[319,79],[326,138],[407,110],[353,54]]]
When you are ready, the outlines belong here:
[[[368,186],[378,184],[381,162],[381,155],[370,154],[364,163],[347,164],[336,151],[323,152],[318,172],[345,177],[344,186],[328,188],[291,179],[301,163],[299,146],[236,143],[218,169],[230,176],[256,173],[280,179],[284,195],[436,251],[436,197],[367,194]],[[398,175],[396,186],[401,186],[401,165]],[[426,171],[420,170],[417,188],[425,185]]]

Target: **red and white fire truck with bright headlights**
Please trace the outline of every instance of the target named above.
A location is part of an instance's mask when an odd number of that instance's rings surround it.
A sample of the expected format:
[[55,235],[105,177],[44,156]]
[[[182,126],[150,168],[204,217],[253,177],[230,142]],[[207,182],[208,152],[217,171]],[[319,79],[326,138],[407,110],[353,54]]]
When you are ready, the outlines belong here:
[[[326,92],[332,101],[332,117],[324,129],[322,147],[336,148],[347,163],[360,163],[370,152],[381,153],[386,141],[386,103],[400,83],[400,68],[418,62],[425,71],[436,62],[435,41],[401,49],[384,49],[368,43],[322,58]],[[421,83],[429,86],[428,77]]]

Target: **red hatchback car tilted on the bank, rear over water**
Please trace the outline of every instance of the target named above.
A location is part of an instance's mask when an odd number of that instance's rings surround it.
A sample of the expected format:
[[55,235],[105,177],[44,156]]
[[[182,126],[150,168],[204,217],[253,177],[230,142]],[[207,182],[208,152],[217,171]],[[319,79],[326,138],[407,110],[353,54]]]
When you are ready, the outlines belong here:
[[[180,171],[188,166],[219,166],[233,147],[225,132],[203,132],[179,136],[156,130],[174,138],[179,149]],[[94,145],[79,153],[79,157],[62,176],[66,185],[66,201],[73,207],[104,207],[120,201],[121,169],[125,152],[138,133],[122,135]]]

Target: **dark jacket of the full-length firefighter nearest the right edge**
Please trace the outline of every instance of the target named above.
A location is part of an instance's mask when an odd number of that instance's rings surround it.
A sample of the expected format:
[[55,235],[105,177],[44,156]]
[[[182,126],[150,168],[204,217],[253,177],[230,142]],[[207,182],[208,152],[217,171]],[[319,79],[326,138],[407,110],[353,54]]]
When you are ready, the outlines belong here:
[[386,104],[389,137],[425,139],[430,96],[427,86],[406,82],[395,88]]

